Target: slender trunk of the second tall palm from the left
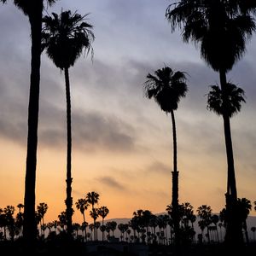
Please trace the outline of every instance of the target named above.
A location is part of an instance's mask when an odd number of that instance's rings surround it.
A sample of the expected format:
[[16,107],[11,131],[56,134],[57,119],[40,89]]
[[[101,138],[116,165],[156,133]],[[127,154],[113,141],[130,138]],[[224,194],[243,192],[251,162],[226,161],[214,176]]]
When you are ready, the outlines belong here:
[[71,135],[71,100],[70,100],[70,84],[68,68],[65,68],[65,82],[66,82],[66,101],[67,101],[67,236],[72,237],[73,226],[72,226],[72,215],[73,215],[73,198],[72,194],[72,180],[71,177],[71,150],[72,150],[72,135]]

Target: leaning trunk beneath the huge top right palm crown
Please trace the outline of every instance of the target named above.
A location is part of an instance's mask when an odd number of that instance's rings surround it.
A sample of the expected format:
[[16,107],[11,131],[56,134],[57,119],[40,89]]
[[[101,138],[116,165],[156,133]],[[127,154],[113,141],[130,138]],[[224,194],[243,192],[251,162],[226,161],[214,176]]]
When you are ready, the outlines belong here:
[[232,246],[232,244],[239,246],[243,243],[242,237],[242,224],[237,216],[237,191],[236,191],[236,175],[235,175],[235,165],[233,157],[233,148],[232,148],[232,138],[231,138],[231,129],[230,129],[230,116],[226,112],[226,102],[228,101],[226,95],[226,72],[221,70],[219,71],[219,79],[221,90],[223,92],[223,119],[224,119],[224,138],[225,138],[225,147],[227,155],[227,165],[228,165],[228,178],[227,178],[227,193],[226,193],[226,212],[227,212],[227,227],[224,241]]

